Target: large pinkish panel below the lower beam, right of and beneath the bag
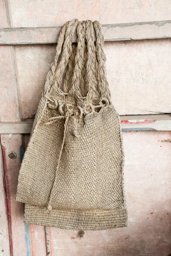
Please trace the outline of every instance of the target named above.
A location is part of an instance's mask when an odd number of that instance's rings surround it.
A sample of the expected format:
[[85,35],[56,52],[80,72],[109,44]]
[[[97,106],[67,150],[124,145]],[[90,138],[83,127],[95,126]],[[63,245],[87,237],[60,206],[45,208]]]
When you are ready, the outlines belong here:
[[[128,227],[78,231],[51,227],[52,256],[167,256],[171,251],[171,132],[124,132]],[[66,246],[67,245],[67,246]]]

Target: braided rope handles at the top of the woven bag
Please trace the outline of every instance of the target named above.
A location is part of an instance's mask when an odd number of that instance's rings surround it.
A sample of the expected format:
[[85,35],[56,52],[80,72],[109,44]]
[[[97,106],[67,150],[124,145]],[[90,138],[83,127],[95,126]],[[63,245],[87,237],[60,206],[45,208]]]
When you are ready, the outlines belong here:
[[[77,29],[77,46],[72,37]],[[94,33],[96,32],[96,43]],[[85,44],[85,40],[87,44]],[[75,101],[98,104],[102,97],[110,101],[110,90],[106,77],[106,56],[103,49],[104,37],[101,24],[91,20],[73,19],[64,24],[58,38],[55,59],[46,77],[45,92],[62,97],[71,97]],[[58,61],[61,55],[61,60]],[[61,90],[64,70],[68,67]]]

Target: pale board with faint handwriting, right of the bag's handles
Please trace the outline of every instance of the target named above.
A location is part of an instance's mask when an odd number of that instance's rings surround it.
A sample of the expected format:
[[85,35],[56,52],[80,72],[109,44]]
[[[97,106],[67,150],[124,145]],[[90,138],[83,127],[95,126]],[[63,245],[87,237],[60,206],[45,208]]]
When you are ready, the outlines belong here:
[[104,49],[112,102],[120,115],[171,112],[170,39],[107,42]]

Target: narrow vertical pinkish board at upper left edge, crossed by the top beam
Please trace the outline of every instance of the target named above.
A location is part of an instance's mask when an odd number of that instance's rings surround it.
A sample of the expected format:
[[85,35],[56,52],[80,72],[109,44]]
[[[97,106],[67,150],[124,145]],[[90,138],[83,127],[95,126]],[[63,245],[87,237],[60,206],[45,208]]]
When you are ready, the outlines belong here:
[[[0,26],[10,27],[9,9],[0,1]],[[20,121],[14,47],[0,46],[0,122]]]

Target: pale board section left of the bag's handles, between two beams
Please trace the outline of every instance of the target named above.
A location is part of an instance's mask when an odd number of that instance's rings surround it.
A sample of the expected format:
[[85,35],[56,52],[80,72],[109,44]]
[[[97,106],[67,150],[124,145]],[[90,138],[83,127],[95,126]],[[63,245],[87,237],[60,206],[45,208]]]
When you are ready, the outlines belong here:
[[[32,118],[41,99],[46,75],[55,55],[55,46],[16,47],[17,70],[23,118]],[[45,54],[43,51],[45,50]]]

